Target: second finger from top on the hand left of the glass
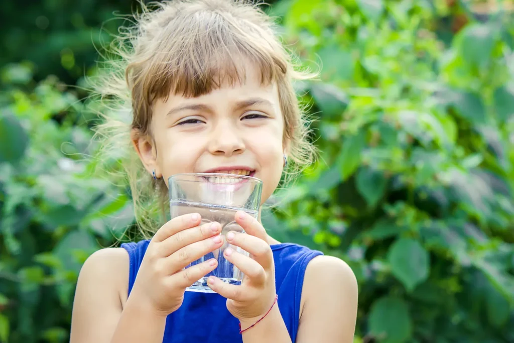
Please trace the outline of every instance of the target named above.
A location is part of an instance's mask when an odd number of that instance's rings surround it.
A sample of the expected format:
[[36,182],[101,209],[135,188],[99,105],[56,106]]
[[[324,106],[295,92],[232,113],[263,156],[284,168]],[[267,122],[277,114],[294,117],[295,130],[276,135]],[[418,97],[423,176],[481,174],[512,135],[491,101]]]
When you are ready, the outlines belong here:
[[159,249],[163,251],[162,256],[170,256],[180,248],[219,234],[221,230],[222,226],[213,222],[178,231],[164,240]]

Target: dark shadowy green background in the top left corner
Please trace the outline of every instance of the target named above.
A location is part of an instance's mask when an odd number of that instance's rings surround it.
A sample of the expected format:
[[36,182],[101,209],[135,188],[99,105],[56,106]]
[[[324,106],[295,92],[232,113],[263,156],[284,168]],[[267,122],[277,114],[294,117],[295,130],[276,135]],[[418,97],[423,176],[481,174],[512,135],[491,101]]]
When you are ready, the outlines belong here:
[[113,13],[130,12],[135,5],[124,0],[0,2],[0,65],[29,60],[36,68],[17,76],[41,80],[56,75],[74,84],[98,60],[95,48],[100,50],[118,26],[128,24]]

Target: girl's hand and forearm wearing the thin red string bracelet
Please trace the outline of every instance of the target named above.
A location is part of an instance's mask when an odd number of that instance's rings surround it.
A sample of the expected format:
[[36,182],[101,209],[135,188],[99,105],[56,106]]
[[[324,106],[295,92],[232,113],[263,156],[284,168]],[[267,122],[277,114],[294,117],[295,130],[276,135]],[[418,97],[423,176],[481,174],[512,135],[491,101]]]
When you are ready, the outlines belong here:
[[[238,211],[234,219],[246,233],[228,232],[227,241],[248,251],[251,257],[233,249],[225,249],[224,254],[225,259],[239,268],[245,277],[241,285],[236,286],[211,276],[207,281],[209,287],[227,298],[227,309],[241,323],[244,343],[291,343],[278,304],[271,306],[276,296],[275,270],[266,230],[259,221],[243,211]],[[250,328],[261,318],[258,324]]]

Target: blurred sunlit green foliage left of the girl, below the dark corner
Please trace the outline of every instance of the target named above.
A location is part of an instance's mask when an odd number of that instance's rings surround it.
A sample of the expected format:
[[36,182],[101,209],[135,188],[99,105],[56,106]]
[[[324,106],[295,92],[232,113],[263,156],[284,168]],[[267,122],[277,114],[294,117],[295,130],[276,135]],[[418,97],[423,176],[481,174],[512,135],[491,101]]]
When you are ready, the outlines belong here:
[[14,69],[24,77],[4,78],[0,94],[0,341],[63,342],[82,263],[121,238],[134,214],[87,158],[93,113],[79,94]]

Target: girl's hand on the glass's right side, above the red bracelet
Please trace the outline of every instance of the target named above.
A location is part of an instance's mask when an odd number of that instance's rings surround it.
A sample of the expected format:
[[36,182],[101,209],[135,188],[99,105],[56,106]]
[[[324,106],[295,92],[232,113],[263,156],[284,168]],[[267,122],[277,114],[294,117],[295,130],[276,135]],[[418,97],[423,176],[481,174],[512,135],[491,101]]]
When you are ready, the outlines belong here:
[[225,283],[210,276],[207,284],[211,289],[227,298],[227,309],[240,321],[251,321],[264,316],[275,300],[275,267],[273,252],[267,243],[264,227],[251,215],[237,211],[235,221],[246,233],[228,232],[230,244],[248,251],[251,257],[233,249],[225,249],[225,258],[244,274],[241,285]]

